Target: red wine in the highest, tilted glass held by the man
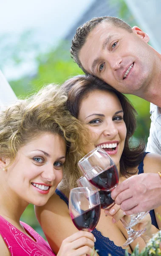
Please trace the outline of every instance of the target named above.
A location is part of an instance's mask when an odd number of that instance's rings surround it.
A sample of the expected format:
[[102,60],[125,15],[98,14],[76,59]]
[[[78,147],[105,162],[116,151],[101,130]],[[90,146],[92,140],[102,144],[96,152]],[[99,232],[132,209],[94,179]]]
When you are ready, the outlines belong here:
[[116,165],[100,172],[98,175],[89,180],[94,186],[102,190],[111,190],[119,183],[119,174]]

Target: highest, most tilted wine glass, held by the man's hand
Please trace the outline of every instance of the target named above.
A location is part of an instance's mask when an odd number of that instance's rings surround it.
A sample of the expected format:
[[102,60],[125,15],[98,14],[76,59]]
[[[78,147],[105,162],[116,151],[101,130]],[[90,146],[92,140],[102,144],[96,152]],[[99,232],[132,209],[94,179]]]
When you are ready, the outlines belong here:
[[[78,162],[83,175],[98,189],[112,191],[119,183],[119,173],[112,158],[102,148],[90,151]],[[140,212],[126,218],[126,228],[133,227],[149,212]]]

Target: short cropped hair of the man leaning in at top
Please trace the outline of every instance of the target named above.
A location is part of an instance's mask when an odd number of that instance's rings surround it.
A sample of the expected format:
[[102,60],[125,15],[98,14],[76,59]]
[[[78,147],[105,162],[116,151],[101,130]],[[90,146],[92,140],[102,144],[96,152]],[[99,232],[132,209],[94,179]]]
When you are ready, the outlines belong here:
[[111,16],[102,16],[102,17],[95,17],[83,25],[79,26],[76,29],[76,34],[73,37],[72,44],[71,44],[71,58],[78,64],[78,66],[87,74],[88,72],[84,69],[82,66],[80,60],[79,60],[79,51],[82,49],[83,45],[85,44],[85,41],[89,35],[89,33],[99,24],[102,22],[110,23],[116,27],[119,27],[121,29],[126,29],[129,33],[132,33],[131,27],[124,22],[123,20],[120,20],[116,17]]

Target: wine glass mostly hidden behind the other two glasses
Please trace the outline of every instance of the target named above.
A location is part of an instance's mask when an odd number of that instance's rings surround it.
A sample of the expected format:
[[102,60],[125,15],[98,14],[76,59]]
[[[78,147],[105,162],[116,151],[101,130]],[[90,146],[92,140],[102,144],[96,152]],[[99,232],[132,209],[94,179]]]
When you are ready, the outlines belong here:
[[[79,187],[93,187],[94,186],[86,179],[85,176],[80,177],[76,183],[78,184]],[[99,190],[99,196],[100,196],[100,202],[101,202],[101,209],[110,209],[111,207],[113,207],[113,205],[115,204],[115,201],[111,198],[111,192],[110,191],[105,191],[105,190]],[[132,243],[136,238],[138,238],[139,236],[141,236],[145,230],[138,230],[135,231],[132,228],[126,228],[127,223],[124,221],[123,218],[120,219],[120,221],[122,222],[124,228],[127,230],[127,235],[128,238],[126,240],[126,242],[123,244],[123,246],[127,246],[128,244]]]

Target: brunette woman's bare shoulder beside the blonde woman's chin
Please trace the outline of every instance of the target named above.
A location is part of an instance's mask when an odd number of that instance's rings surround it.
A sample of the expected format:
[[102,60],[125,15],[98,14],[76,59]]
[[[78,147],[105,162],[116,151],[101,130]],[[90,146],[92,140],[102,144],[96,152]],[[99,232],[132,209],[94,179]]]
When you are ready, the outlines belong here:
[[[68,195],[68,192],[63,193]],[[78,231],[71,220],[68,205],[56,193],[47,204],[35,207],[35,213],[55,254],[58,253],[62,241]]]

